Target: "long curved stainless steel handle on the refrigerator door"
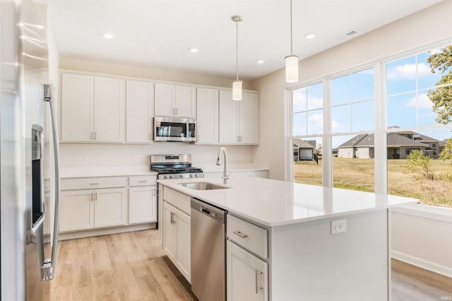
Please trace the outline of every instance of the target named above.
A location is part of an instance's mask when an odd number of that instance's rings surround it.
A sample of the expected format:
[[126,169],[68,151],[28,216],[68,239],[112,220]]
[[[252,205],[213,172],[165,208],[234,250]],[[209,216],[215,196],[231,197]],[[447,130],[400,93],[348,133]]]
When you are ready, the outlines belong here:
[[55,210],[54,210],[54,235],[52,240],[52,257],[45,259],[41,266],[41,280],[48,281],[54,278],[55,264],[57,263],[57,244],[59,232],[59,141],[57,120],[52,102],[51,86],[44,85],[44,102],[49,102],[50,117],[52,119],[52,136],[54,143],[54,173],[55,173]]

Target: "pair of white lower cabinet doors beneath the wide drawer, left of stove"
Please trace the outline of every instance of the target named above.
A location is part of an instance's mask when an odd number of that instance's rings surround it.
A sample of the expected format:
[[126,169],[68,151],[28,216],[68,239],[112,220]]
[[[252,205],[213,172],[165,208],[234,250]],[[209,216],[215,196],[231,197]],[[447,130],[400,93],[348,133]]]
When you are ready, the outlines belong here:
[[60,232],[111,227],[126,223],[126,189],[61,191]]

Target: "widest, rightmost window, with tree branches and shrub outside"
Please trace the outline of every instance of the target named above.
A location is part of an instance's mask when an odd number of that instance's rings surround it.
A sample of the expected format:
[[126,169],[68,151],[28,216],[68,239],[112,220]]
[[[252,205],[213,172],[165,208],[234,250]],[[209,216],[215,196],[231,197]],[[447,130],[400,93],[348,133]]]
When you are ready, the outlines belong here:
[[[447,46],[386,64],[388,194],[452,207],[451,163],[440,158],[451,138],[451,59]],[[398,148],[404,155],[391,156]]]

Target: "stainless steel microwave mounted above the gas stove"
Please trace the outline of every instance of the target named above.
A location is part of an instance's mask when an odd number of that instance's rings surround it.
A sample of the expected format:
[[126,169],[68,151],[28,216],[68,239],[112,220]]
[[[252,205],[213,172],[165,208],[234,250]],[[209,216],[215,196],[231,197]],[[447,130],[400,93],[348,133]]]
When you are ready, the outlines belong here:
[[196,141],[196,119],[154,117],[154,141]]

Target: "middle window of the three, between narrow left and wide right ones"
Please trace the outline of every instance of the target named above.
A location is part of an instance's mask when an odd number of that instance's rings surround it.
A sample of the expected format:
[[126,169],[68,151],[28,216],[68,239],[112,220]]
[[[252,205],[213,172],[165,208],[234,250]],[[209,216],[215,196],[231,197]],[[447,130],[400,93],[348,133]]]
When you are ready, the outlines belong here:
[[374,191],[374,82],[373,68],[331,80],[333,187]]

